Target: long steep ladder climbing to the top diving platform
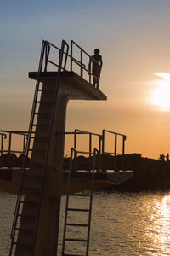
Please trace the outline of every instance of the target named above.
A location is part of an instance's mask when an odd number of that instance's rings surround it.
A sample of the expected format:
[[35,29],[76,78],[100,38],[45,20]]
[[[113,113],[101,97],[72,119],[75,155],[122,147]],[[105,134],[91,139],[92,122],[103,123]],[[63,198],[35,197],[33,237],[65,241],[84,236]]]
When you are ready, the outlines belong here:
[[61,49],[59,50],[59,65],[55,65],[58,67],[56,84],[52,88],[47,88],[45,84],[41,87],[40,78],[44,59],[45,71],[47,71],[50,46],[48,42],[42,42],[37,84],[31,111],[29,136],[26,145],[26,157],[31,154],[31,168],[30,170],[26,169],[25,158],[22,166],[20,191],[14,212],[9,256],[34,255],[43,181],[48,164],[48,149],[53,128],[54,110],[59,89],[59,74],[62,70],[65,45],[67,47],[66,52],[68,53],[69,46],[63,40]]

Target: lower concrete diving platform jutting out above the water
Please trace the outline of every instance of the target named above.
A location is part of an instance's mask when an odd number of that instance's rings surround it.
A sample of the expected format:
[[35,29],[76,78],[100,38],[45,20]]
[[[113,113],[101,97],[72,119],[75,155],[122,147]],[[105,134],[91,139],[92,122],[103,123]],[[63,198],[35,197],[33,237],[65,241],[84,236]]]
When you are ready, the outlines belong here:
[[[0,169],[0,190],[17,195],[20,188],[21,168],[2,168]],[[26,172],[31,172],[29,169]],[[55,171],[48,172],[48,197],[66,195],[68,186],[68,171],[62,172],[62,183],[58,184],[58,178]],[[76,193],[90,188],[90,172],[72,172],[71,173],[71,192]],[[133,177],[133,171],[120,172],[95,172],[94,189],[105,188],[111,185],[119,185]]]

